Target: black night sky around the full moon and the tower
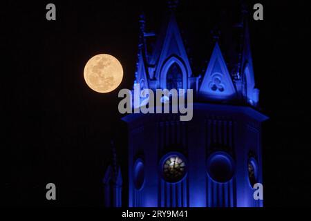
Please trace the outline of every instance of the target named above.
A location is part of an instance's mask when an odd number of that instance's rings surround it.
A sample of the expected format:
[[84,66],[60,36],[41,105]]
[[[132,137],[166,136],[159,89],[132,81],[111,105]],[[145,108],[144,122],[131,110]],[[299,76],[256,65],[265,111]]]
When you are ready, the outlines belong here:
[[[1,185],[7,205],[103,204],[109,142],[115,137],[123,160],[126,130],[118,90],[93,92],[83,68],[93,55],[111,54],[124,68],[120,88],[131,88],[138,16],[144,10],[147,28],[157,29],[165,9],[153,2],[53,1],[57,21],[45,19],[50,1],[1,3]],[[177,17],[185,35],[204,39],[215,8],[228,2],[181,1]],[[264,21],[249,26],[261,107],[270,117],[263,127],[265,206],[311,206],[310,12],[307,1],[257,2]],[[211,54],[196,53],[202,59]],[[45,199],[48,182],[57,185],[56,202]]]

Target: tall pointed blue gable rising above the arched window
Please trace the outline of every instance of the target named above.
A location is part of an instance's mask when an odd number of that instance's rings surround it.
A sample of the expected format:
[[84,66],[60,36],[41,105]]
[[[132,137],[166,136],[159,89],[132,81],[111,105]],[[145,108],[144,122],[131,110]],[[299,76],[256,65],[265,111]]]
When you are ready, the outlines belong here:
[[[167,28],[164,32],[164,35],[159,36],[162,39],[158,39],[158,43],[161,42],[162,45],[159,47],[160,51],[155,52],[152,61],[156,65],[156,72],[151,73],[151,78],[156,77],[157,79],[161,78],[162,75],[162,66],[166,63],[171,57],[177,57],[181,62],[185,70],[185,78],[192,75],[189,59],[187,57],[187,52],[178,29],[178,24],[176,22],[175,15],[172,13],[167,23]],[[187,85],[187,84],[186,84]]]

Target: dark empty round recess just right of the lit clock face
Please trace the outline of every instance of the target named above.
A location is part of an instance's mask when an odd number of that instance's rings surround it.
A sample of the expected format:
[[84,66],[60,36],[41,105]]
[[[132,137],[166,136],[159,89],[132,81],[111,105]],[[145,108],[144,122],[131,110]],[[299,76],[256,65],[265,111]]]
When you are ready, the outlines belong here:
[[234,175],[234,160],[223,151],[213,153],[207,160],[207,173],[216,182],[228,182]]

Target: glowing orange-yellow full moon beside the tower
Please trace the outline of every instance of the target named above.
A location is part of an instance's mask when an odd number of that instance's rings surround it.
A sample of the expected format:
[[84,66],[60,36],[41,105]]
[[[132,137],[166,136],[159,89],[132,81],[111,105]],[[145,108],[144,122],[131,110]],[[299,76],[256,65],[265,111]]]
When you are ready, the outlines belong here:
[[84,67],[86,84],[98,93],[109,93],[121,84],[123,68],[111,55],[95,55]]

